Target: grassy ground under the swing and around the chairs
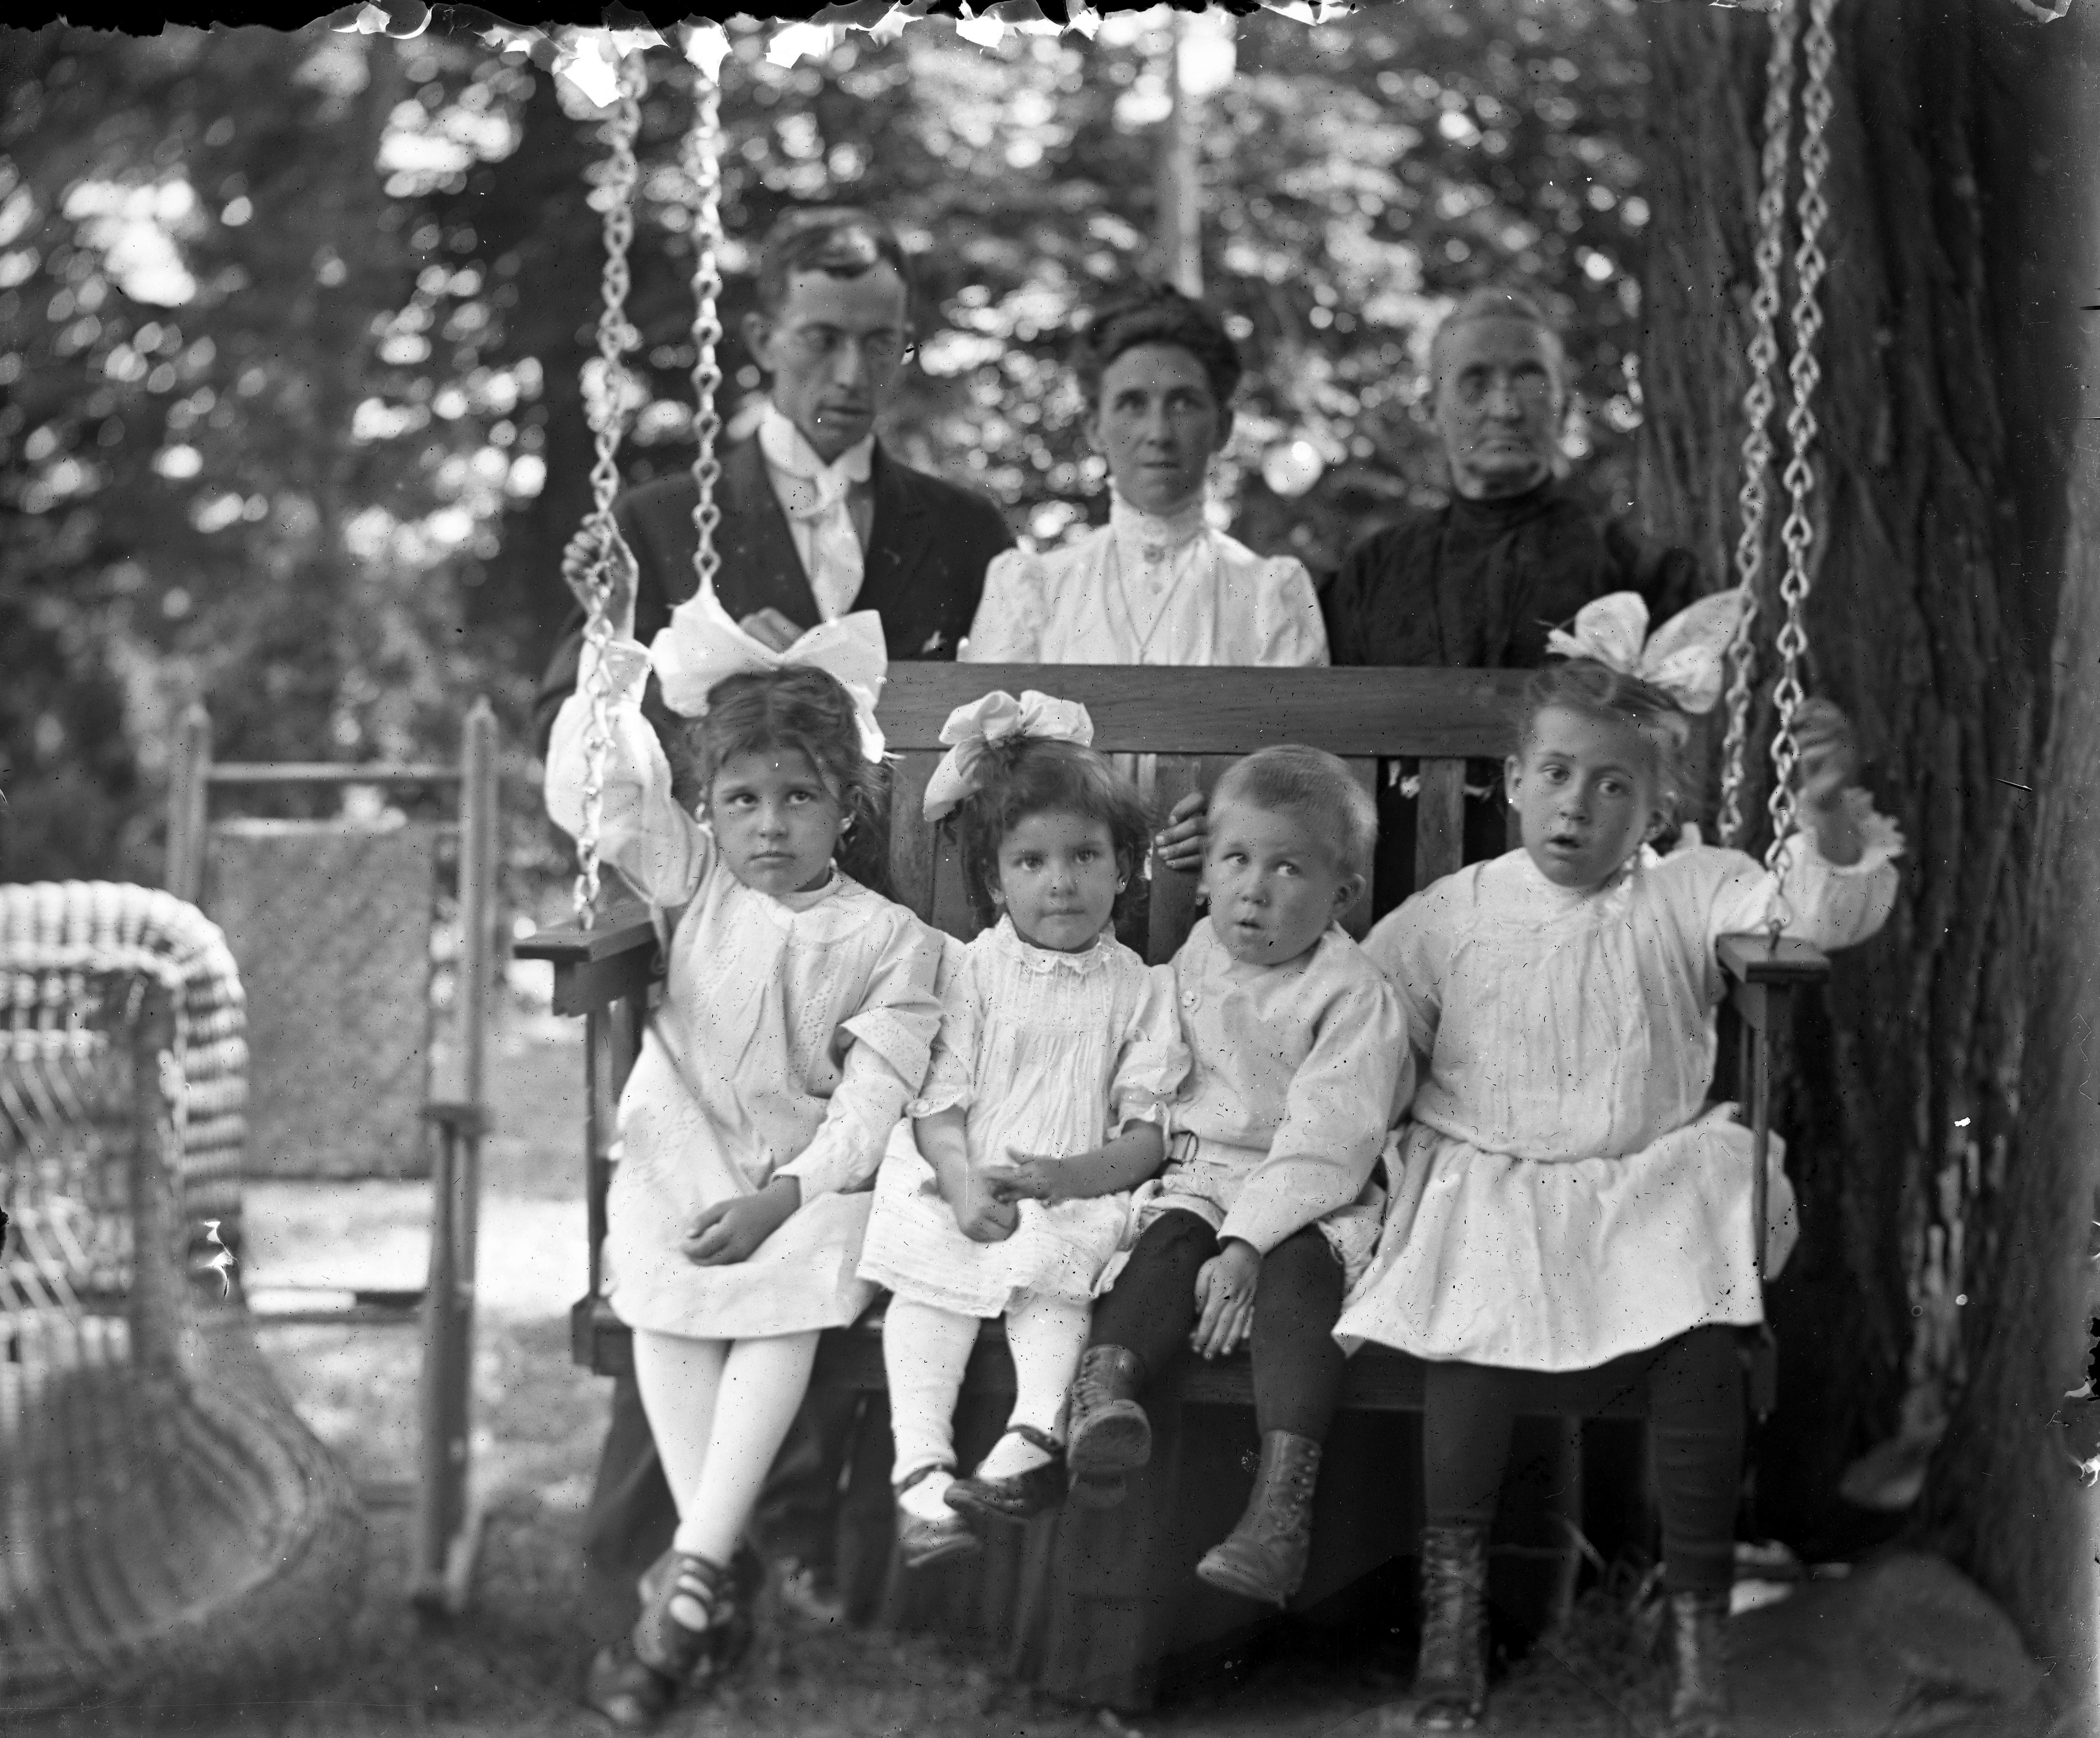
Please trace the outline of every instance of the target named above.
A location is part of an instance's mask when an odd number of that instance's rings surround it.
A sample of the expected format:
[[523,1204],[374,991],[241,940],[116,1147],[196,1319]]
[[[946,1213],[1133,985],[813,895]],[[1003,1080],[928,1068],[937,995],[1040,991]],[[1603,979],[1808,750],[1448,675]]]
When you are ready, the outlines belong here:
[[[592,1612],[578,1528],[605,1421],[605,1387],[569,1362],[565,1312],[584,1287],[582,1054],[575,1024],[512,1012],[496,1031],[485,1148],[475,1490],[487,1503],[472,1608],[433,1623],[405,1599],[414,1471],[412,1331],[262,1329],[262,1348],[307,1421],[346,1461],[370,1507],[363,1604],[340,1665],[271,1700],[122,1709],[40,1721],[46,1738],[185,1732],[227,1738],[569,1738],[603,1734],[575,1700]],[[248,1203],[250,1287],[414,1287],[426,1188],[258,1186]],[[716,1698],[676,1713],[666,1738],[1373,1738],[1407,1728],[1405,1641],[1298,1633],[1134,1719],[1058,1707],[924,1637],[825,1629],[792,1614]],[[1756,1686],[1739,1683],[1739,1698]],[[1506,1738],[1646,1738],[1661,1683],[1617,1608],[1592,1602],[1497,1690]],[[1865,1738],[1942,1728],[1745,1723],[1743,1738]],[[1982,1738],[1978,1730],[1974,1738]]]

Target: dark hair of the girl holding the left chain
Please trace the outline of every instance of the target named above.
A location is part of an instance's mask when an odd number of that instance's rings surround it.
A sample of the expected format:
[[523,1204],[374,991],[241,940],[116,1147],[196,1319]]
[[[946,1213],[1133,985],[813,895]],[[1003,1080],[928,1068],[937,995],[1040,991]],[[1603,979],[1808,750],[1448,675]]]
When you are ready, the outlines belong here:
[[861,754],[861,720],[836,678],[823,670],[750,670],[708,688],[708,716],[695,720],[687,747],[699,781],[699,802],[714,791],[722,762],[739,754],[794,749],[823,779],[846,812],[838,867],[888,898],[890,852],[884,825],[882,768]]

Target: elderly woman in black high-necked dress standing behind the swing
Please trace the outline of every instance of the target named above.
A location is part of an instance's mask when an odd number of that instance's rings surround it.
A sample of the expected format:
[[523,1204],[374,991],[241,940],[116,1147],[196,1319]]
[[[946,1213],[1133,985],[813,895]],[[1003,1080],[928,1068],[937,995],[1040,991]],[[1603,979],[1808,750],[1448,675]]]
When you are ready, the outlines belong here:
[[[1327,590],[1336,663],[1531,670],[1546,632],[1606,592],[1640,592],[1663,621],[1693,600],[1697,563],[1598,516],[1558,476],[1567,351],[1518,290],[1474,290],[1430,340],[1430,411],[1451,500],[1365,537]],[[1468,775],[1466,854],[1504,848],[1491,766]],[[1413,884],[1413,804],[1388,791],[1376,886]]]

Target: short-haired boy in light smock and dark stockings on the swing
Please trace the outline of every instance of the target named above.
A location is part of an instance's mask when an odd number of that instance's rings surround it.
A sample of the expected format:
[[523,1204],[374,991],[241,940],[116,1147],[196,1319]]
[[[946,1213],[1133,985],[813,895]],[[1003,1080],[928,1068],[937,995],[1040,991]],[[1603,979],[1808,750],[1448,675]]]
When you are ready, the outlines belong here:
[[1260,1469],[1197,1574],[1279,1606],[1310,1553],[1342,1390],[1334,1322],[1378,1243],[1373,1173],[1413,1091],[1401,1001],[1338,921],[1363,894],[1376,838],[1369,791],[1321,749],[1262,749],[1218,781],[1210,917],[1172,966],[1195,1066],[1069,1402],[1073,1497],[1115,1503],[1124,1474],[1151,1457],[1147,1385],[1184,1348],[1216,1358],[1252,1343]]

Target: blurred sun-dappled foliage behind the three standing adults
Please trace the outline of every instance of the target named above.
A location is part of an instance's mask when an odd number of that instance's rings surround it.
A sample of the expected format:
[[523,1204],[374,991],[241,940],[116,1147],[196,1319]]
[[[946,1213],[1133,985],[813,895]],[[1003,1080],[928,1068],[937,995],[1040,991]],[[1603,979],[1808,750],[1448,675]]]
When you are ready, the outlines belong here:
[[[777,65],[731,29],[722,210],[735,409],[750,241],[788,206],[886,212],[918,254],[914,464],[1037,542],[1105,514],[1063,357],[1153,267],[1166,13],[998,48],[928,19]],[[1422,357],[1520,281],[1571,336],[1569,455],[1632,502],[1644,84],[1632,0],[1409,0],[1191,29],[1208,294],[1250,374],[1218,500],[1317,573],[1434,500]],[[460,29],[0,34],[4,871],[158,873],[172,720],[223,758],[449,756],[525,707],[590,500],[578,369],[601,145],[573,90]],[[1191,59],[1197,57],[1197,59]],[[1226,71],[1231,57],[1231,78]],[[691,458],[682,63],[647,57],[630,481]],[[1266,453],[1323,462],[1283,497]],[[556,856],[519,791],[519,859]]]

